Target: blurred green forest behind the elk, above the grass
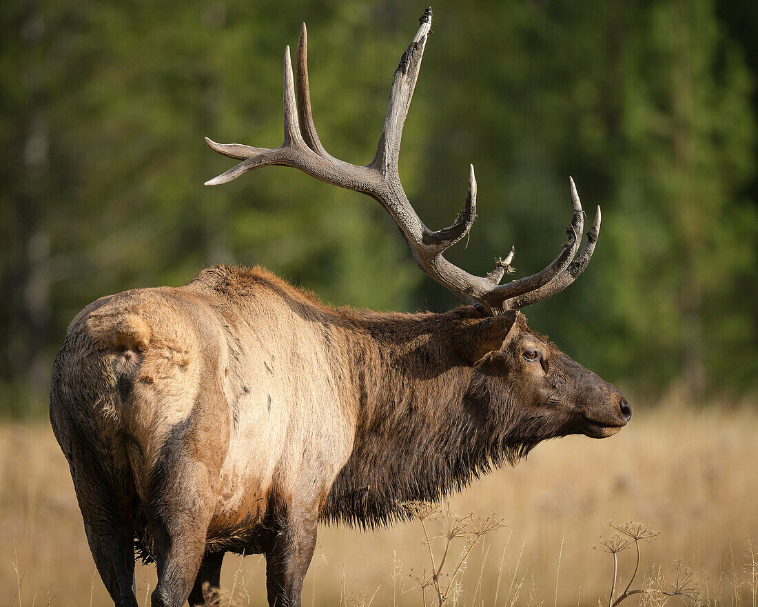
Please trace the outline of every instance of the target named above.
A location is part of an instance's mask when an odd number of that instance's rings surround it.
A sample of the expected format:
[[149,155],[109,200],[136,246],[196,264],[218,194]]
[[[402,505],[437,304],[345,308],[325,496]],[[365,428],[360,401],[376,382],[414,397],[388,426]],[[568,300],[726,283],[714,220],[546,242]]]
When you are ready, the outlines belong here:
[[[372,200],[290,168],[223,187],[202,137],[276,146],[282,51],[309,26],[324,146],[371,160],[425,4],[4,0],[0,414],[45,414],[68,322],[128,288],[261,263],[332,304],[446,310]],[[449,258],[516,277],[565,238],[568,175],[599,246],[531,326],[625,392],[758,388],[758,9],[751,0],[437,2],[400,174]],[[635,403],[637,404],[637,403]]]

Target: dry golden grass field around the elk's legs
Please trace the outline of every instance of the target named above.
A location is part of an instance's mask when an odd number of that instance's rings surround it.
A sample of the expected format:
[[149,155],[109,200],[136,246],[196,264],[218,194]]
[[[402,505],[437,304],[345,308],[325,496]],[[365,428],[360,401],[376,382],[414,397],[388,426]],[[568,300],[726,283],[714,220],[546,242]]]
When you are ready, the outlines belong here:
[[[450,604],[608,605],[612,555],[593,547],[612,531],[609,521],[634,519],[661,532],[642,546],[634,587],[661,575],[666,590],[681,559],[710,605],[755,607],[748,538],[758,540],[758,408],[641,410],[611,439],[538,446],[518,467],[453,496],[450,508],[494,512],[507,525],[471,552]],[[371,533],[322,527],[303,605],[421,605],[413,577],[430,567],[423,539],[418,521]],[[434,548],[442,541],[432,539]],[[619,553],[622,590],[633,568],[632,543]],[[265,604],[264,570],[258,555],[227,555],[218,604]],[[138,567],[136,584],[140,605],[149,605],[155,570]],[[624,604],[665,599],[637,594]],[[0,605],[108,604],[51,429],[0,426]],[[432,593],[428,604],[437,604]]]

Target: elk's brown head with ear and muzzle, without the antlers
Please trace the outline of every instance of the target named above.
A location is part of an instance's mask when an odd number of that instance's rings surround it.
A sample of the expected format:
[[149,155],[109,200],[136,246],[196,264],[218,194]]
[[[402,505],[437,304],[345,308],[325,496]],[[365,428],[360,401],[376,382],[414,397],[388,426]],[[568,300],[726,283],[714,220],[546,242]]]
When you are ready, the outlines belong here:
[[528,450],[568,434],[602,439],[631,419],[614,385],[531,331],[518,310],[479,322],[468,338],[473,373],[465,404],[482,423],[517,432],[507,437],[511,444]]

